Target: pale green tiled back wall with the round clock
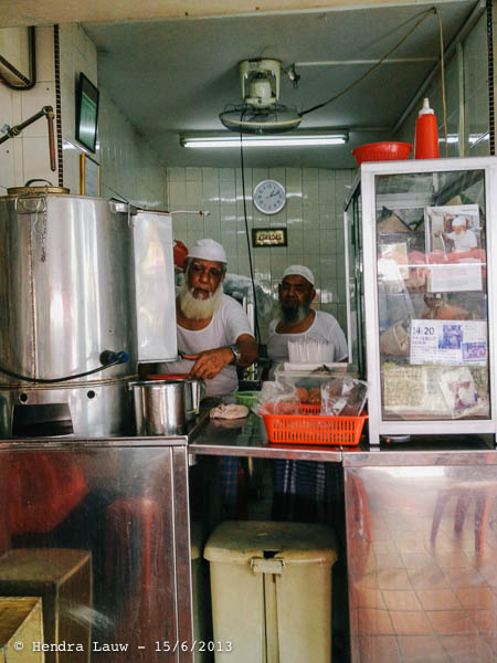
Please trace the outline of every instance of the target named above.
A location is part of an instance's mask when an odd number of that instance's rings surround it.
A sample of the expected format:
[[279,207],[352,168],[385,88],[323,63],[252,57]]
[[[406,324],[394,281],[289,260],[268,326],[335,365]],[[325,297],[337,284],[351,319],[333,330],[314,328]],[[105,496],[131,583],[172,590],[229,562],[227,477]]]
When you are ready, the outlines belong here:
[[[317,168],[245,169],[247,227],[283,227],[288,246],[252,249],[255,280],[276,298],[288,264],[310,267],[317,283],[317,307],[332,313],[346,329],[343,201],[355,170]],[[254,187],[265,178],[286,187],[287,202],[274,215],[252,204]],[[168,200],[173,210],[209,211],[210,215],[175,214],[175,238],[191,246],[213,238],[226,250],[229,272],[250,275],[242,171],[231,168],[168,168]]]

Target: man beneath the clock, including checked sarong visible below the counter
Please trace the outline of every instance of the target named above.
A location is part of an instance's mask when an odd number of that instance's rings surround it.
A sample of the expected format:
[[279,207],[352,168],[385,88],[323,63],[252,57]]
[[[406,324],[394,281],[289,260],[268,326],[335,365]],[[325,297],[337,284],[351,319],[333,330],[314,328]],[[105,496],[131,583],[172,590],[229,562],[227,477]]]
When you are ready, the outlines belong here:
[[[347,340],[340,325],[329,313],[314,311],[315,278],[309,267],[289,265],[278,286],[281,316],[269,325],[267,356],[276,362],[288,361],[288,340],[311,339],[334,347],[334,361],[345,361]],[[325,513],[325,463],[315,461],[274,462],[273,518],[314,522]]]

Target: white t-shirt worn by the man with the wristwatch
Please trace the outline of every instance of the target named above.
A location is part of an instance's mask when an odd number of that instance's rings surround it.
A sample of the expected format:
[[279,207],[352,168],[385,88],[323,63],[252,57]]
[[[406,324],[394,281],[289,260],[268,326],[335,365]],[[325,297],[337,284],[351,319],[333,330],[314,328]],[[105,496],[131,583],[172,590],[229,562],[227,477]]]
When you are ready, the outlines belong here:
[[[221,304],[212,316],[211,322],[203,329],[184,329],[177,325],[178,329],[178,350],[184,355],[194,355],[202,350],[212,348],[222,348],[236,343],[242,334],[252,334],[251,325],[245,312],[241,305],[224,295]],[[167,361],[159,365],[158,372],[184,373],[190,372],[194,361],[191,359],[181,359],[180,361]],[[236,367],[234,364],[225,366],[222,371],[212,378],[205,380],[205,396],[224,396],[233,393],[239,387],[236,377]]]

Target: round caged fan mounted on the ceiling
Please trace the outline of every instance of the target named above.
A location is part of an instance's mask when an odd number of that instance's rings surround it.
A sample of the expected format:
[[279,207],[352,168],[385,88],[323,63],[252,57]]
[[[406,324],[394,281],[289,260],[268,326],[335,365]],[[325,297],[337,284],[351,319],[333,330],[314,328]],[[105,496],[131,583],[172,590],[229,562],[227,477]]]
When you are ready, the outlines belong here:
[[303,117],[294,106],[278,103],[282,63],[274,59],[239,64],[243,104],[226,106],[220,120],[239,134],[281,134],[295,129]]

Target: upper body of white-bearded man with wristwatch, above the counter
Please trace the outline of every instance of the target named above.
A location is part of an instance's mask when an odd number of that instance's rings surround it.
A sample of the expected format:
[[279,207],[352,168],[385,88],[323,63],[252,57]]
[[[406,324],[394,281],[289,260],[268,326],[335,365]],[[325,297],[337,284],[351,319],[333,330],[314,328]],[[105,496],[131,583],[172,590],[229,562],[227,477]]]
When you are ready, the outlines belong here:
[[199,240],[189,251],[186,281],[176,314],[181,361],[162,364],[167,372],[188,372],[207,383],[207,396],[236,391],[236,366],[251,366],[257,344],[242,306],[223,293],[226,254],[219,242]]

